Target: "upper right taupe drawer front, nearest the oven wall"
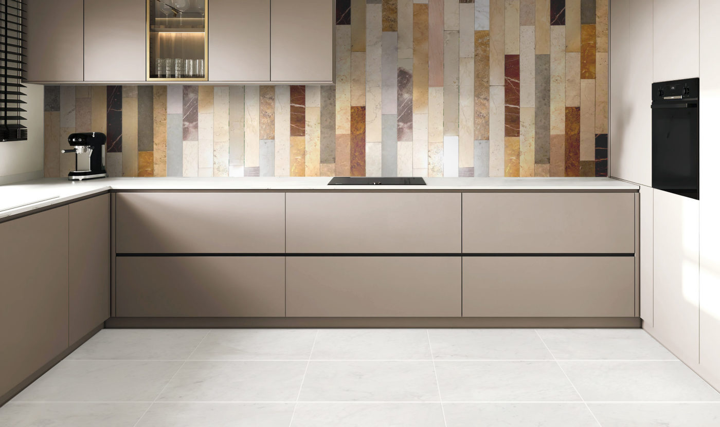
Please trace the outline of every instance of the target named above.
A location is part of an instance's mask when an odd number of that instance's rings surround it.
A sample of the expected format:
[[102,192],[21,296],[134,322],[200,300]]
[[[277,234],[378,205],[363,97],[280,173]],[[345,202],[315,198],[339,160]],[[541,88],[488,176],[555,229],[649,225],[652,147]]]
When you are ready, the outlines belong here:
[[464,253],[634,253],[634,193],[464,193]]

